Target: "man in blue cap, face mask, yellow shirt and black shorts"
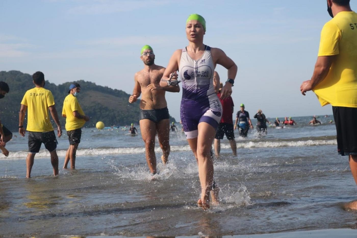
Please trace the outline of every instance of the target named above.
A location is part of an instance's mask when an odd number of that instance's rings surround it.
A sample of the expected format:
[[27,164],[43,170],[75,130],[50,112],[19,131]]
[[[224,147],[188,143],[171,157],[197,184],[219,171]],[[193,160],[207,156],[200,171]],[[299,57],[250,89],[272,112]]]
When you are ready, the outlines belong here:
[[67,168],[69,160],[71,160],[71,169],[75,169],[76,152],[79,143],[81,142],[82,127],[85,122],[89,121],[79,105],[78,95],[81,91],[81,86],[77,83],[69,86],[68,96],[63,102],[62,116],[66,118],[66,131],[69,140],[69,148],[66,153],[65,164],[63,168]]

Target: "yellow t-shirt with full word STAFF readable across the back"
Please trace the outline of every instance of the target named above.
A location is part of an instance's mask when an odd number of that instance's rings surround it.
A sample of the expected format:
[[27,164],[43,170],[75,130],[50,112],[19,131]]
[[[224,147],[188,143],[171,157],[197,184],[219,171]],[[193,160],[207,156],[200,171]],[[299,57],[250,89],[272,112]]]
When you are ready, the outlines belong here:
[[27,131],[50,132],[53,130],[48,107],[55,105],[50,90],[33,88],[27,90],[21,104],[27,106]]

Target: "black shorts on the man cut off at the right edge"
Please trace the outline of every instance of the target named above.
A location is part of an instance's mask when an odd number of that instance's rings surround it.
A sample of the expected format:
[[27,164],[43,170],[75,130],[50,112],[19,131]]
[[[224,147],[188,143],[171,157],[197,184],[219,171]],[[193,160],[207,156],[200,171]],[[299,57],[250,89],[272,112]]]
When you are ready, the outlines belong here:
[[357,154],[357,108],[332,106],[340,155]]

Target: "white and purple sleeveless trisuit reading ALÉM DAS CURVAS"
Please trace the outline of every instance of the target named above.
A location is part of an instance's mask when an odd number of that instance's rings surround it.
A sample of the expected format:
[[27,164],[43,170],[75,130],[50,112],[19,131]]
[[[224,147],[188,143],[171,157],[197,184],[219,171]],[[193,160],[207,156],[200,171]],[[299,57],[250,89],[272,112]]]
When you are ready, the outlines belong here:
[[205,46],[205,52],[199,60],[193,60],[182,49],[178,71],[182,81],[181,122],[186,138],[198,136],[198,123],[206,122],[217,130],[222,117],[221,101],[213,87],[213,64],[211,48]]

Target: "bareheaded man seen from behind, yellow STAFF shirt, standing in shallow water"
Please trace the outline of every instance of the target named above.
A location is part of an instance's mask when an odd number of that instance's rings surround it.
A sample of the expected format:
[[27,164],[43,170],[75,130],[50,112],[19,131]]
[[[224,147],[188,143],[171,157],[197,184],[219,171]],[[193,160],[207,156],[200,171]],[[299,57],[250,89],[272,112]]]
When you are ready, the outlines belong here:
[[42,72],[37,71],[32,75],[35,88],[27,90],[21,101],[19,114],[19,133],[25,136],[24,119],[27,109],[27,128],[29,132],[29,154],[27,154],[26,178],[31,177],[32,165],[36,153],[40,151],[41,144],[50,152],[53,175],[58,175],[58,156],[56,153],[57,139],[50,122],[49,109],[53,120],[57,125],[57,136],[61,137],[62,129],[58,119],[55,101],[50,90],[44,89],[46,84],[45,76]]

